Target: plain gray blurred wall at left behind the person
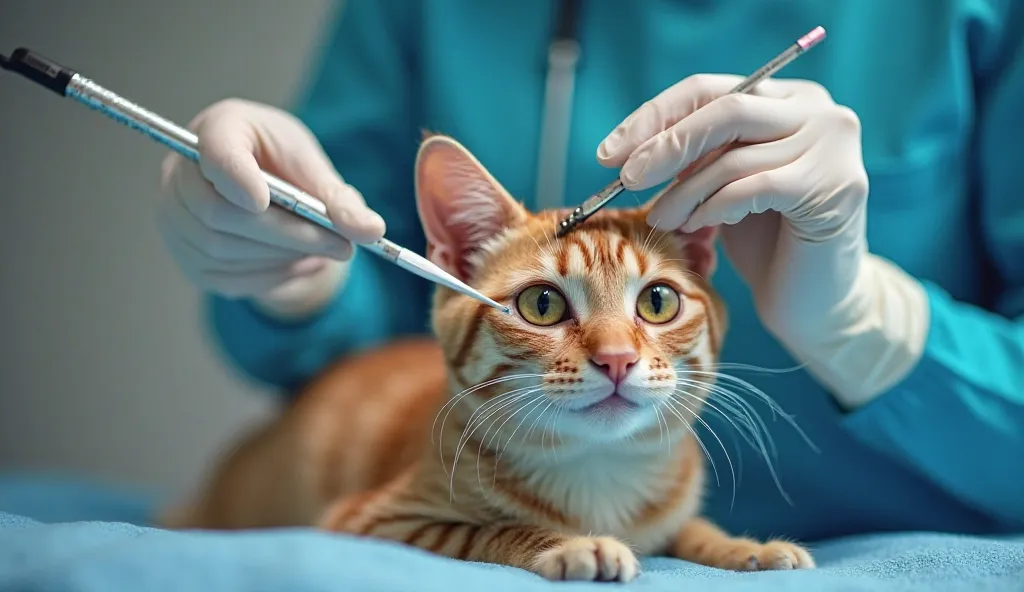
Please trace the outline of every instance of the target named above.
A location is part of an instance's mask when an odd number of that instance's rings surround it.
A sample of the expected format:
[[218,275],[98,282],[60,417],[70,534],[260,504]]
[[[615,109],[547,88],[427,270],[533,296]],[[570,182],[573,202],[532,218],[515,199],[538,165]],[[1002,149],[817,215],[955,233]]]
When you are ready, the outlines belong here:
[[[0,0],[25,45],[181,124],[217,99],[285,105],[330,0]],[[194,487],[270,410],[210,347],[154,224],[165,151],[0,76],[0,470]]]

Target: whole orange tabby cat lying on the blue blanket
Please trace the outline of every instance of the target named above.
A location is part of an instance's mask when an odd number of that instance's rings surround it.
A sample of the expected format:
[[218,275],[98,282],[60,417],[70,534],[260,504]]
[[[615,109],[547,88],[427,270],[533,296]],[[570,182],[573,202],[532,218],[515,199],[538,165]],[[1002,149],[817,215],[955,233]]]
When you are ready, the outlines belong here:
[[814,566],[795,544],[698,517],[691,424],[708,391],[679,389],[709,381],[693,371],[717,363],[725,332],[706,282],[713,230],[652,232],[639,208],[555,240],[563,212],[527,212],[444,136],[421,146],[416,188],[431,259],[513,314],[438,289],[439,347],[330,369],[170,524],[315,524],[553,580],[630,581],[635,553]]

